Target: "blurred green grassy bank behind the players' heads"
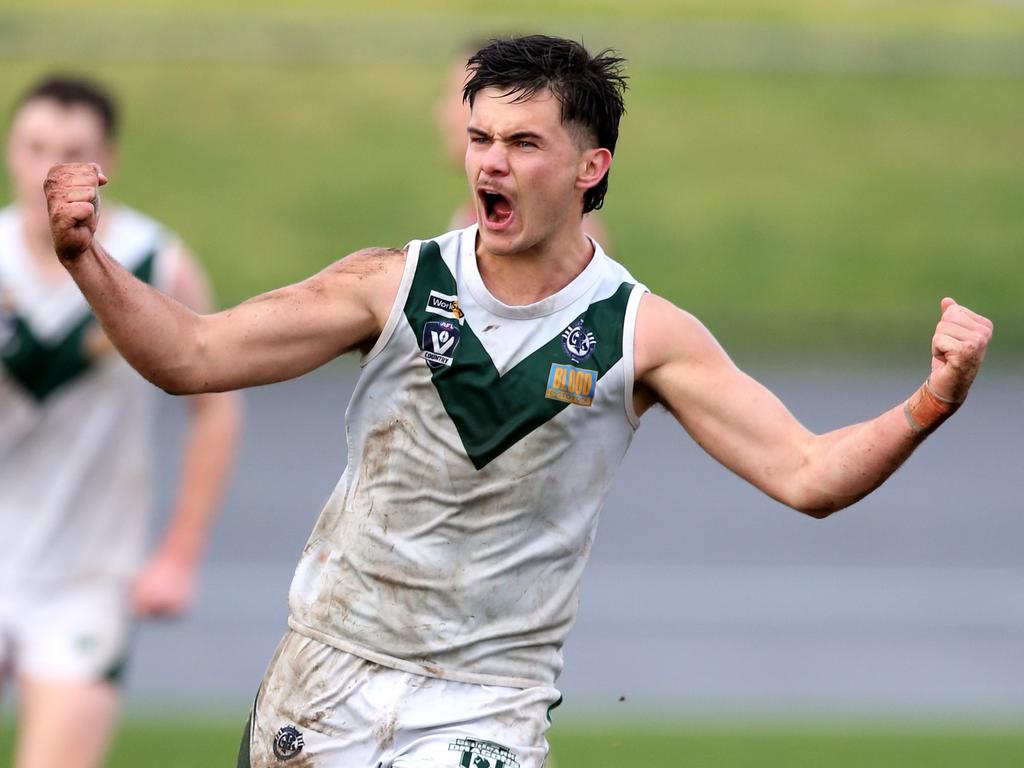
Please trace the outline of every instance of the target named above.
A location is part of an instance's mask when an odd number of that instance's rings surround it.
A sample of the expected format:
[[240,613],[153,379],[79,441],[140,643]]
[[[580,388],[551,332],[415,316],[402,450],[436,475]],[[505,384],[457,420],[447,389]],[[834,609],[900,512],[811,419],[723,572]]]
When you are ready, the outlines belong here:
[[[465,188],[433,125],[450,56],[507,29],[615,45],[632,89],[610,250],[740,358],[927,364],[945,294],[1024,352],[1024,7],[994,2],[14,0],[0,88],[122,96],[109,195],[172,224],[230,304],[439,232]],[[2,179],[0,179],[2,181]]]

